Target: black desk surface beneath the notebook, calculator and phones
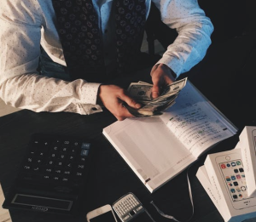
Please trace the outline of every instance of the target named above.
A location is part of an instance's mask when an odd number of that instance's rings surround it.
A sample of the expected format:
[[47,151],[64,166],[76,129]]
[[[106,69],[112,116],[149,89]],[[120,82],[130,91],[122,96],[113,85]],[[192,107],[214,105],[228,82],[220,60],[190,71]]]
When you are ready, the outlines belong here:
[[[256,34],[238,37],[226,43],[212,45],[204,60],[199,65],[183,74],[201,90],[203,94],[230,118],[239,129],[238,134],[218,144],[210,152],[233,149],[238,135],[246,125],[256,125],[254,102],[254,83],[256,62]],[[254,72],[254,73],[253,73]],[[135,80],[137,81],[137,79]],[[177,175],[160,190],[150,194],[137,179],[112,145],[104,139],[102,128],[114,122],[115,118],[108,111],[90,116],[73,113],[35,113],[18,111],[0,118],[0,183],[4,194],[14,182],[25,147],[33,133],[67,134],[96,139],[95,161],[90,173],[90,183],[84,198],[84,212],[77,219],[47,213],[10,210],[13,222],[23,221],[86,221],[88,211],[112,204],[117,198],[131,191],[143,202],[156,221],[171,221],[160,217],[155,204],[165,213],[174,215],[179,220],[189,219],[191,204],[186,180],[186,172]],[[206,155],[190,168],[195,215],[191,221],[222,222],[218,210],[212,204],[206,191],[195,177],[197,169],[203,164]],[[250,222],[256,219],[248,220]]]

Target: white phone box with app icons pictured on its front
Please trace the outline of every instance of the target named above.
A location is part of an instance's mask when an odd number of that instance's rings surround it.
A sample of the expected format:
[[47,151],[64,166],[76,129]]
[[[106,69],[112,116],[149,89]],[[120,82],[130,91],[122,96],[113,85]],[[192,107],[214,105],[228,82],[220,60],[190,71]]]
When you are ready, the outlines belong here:
[[[225,221],[241,222],[256,217],[256,198],[247,196],[242,163],[241,151],[237,148],[209,154],[204,164],[206,170],[197,172],[197,178],[207,192],[211,183],[212,192],[209,196],[216,199],[212,202],[216,208],[221,208],[219,213]],[[207,177],[201,173],[207,173],[209,182],[205,181]]]

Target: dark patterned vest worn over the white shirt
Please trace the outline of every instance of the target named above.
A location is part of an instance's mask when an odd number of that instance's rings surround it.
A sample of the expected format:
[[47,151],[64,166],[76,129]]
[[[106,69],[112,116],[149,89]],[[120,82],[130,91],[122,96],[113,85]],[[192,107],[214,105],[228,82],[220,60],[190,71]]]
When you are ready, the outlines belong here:
[[52,0],[67,70],[72,79],[103,83],[133,70],[145,26],[145,0],[113,0],[117,70],[104,68],[102,32],[92,0]]

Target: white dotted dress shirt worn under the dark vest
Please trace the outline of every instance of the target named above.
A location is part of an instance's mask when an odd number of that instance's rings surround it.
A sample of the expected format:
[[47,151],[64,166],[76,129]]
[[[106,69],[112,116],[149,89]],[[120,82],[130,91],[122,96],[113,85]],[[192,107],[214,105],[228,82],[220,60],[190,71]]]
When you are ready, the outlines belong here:
[[[158,63],[168,65],[177,77],[203,59],[211,44],[212,23],[196,0],[152,0],[161,19],[178,37]],[[115,57],[113,0],[93,0],[102,28],[106,65]],[[151,0],[146,1],[147,16]],[[107,30],[107,31],[106,31]],[[110,31],[109,31],[110,30]],[[32,111],[70,111],[91,114],[99,83],[78,79],[67,82],[38,75],[40,44],[56,63],[66,65],[55,26],[51,0],[3,0],[0,5],[0,97],[6,104]],[[149,75],[149,73],[148,73]]]

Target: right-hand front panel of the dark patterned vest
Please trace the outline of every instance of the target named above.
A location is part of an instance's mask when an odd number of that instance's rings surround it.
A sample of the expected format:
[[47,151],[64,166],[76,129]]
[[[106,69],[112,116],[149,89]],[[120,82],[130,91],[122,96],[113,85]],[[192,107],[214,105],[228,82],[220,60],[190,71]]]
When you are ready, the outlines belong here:
[[143,39],[146,6],[144,0],[124,0],[116,3],[116,38],[118,73],[132,71]]

